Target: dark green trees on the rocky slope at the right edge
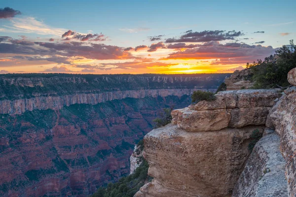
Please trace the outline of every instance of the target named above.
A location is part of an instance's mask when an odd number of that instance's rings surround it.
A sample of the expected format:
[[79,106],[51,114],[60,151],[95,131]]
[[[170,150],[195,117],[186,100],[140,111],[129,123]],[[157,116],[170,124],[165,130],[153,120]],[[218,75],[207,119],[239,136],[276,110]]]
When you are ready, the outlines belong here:
[[264,61],[247,63],[247,68],[253,73],[255,89],[289,86],[287,75],[294,67],[296,67],[296,45],[293,40],[290,40],[290,46],[283,45]]

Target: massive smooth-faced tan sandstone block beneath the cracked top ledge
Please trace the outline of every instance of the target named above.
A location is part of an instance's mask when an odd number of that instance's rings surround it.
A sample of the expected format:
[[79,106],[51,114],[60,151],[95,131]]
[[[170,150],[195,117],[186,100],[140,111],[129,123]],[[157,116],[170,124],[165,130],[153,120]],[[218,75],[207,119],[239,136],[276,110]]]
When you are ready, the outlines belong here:
[[249,156],[252,131],[263,126],[186,132],[176,125],[150,131],[144,157],[154,181],[145,197],[229,197]]

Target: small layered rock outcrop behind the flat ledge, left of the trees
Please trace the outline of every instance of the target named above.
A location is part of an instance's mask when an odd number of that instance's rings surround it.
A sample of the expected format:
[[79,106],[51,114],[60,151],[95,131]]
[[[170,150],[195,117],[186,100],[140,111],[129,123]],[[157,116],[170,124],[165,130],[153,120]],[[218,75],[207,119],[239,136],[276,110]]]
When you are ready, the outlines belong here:
[[252,75],[251,69],[235,70],[225,79],[226,90],[250,89],[253,86]]

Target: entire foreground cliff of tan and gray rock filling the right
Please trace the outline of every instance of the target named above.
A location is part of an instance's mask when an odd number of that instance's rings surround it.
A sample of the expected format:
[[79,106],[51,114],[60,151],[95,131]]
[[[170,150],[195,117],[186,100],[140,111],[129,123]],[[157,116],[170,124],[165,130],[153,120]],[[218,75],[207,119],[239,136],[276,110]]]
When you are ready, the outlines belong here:
[[153,180],[134,197],[296,196],[296,68],[286,90],[241,90],[246,73],[234,72],[214,101],[173,110],[171,124],[145,135]]

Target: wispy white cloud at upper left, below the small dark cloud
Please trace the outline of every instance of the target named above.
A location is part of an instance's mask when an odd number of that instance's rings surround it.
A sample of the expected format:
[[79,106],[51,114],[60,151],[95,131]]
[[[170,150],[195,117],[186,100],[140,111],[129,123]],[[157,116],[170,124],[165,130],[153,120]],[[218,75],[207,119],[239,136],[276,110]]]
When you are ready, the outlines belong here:
[[0,28],[0,32],[5,33],[37,33],[40,35],[58,35],[60,36],[66,30],[59,28],[52,28],[38,21],[33,17],[13,18],[10,19],[10,25],[3,25],[4,28]]

